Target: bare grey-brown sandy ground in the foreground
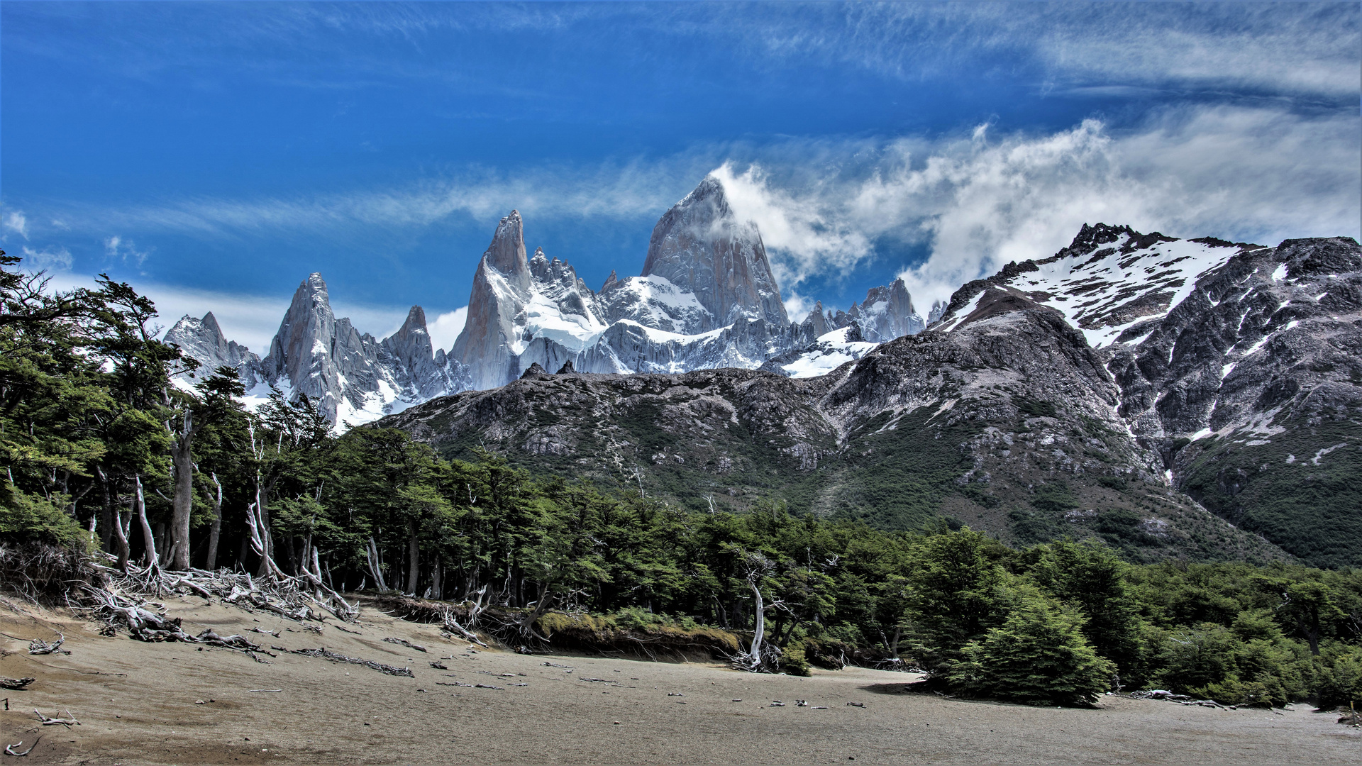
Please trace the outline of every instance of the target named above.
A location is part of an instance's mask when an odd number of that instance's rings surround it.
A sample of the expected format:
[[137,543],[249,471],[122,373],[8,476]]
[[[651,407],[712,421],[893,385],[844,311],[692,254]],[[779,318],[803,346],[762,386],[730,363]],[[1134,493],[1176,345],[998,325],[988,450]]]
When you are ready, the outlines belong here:
[[[334,626],[316,635],[202,598],[168,607],[189,632],[279,630],[281,638],[245,635],[410,667],[415,679],[282,653],[264,665],[0,609],[8,637],[64,630],[71,649],[34,657],[26,642],[0,635],[0,675],[38,679],[29,691],[0,691],[10,698],[0,746],[23,740],[22,751],[42,736],[27,758],[0,755],[0,763],[1362,763],[1362,731],[1308,706],[1216,710],[1117,696],[1095,710],[989,705],[902,694],[913,676],[868,669],[805,679],[470,652],[432,626],[375,609],[365,609],[361,635]],[[441,657],[449,669],[430,668]],[[501,688],[441,686],[451,683]],[[34,707],[69,710],[80,725],[39,726]]]

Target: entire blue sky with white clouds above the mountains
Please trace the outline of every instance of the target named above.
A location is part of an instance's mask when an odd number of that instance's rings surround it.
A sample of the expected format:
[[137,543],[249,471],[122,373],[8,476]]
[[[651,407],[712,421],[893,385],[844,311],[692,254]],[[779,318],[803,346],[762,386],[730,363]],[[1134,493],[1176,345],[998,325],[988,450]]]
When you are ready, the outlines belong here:
[[791,312],[1083,222],[1359,234],[1359,4],[0,4],[0,239],[263,350],[321,271],[452,342],[512,207],[598,288],[718,170]]

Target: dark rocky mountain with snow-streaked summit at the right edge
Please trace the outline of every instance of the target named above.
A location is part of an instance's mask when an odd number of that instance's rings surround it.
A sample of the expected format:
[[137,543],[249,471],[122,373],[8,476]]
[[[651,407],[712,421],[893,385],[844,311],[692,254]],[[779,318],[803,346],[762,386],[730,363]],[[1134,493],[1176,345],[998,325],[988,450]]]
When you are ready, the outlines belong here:
[[1362,249],[1084,226],[1053,258],[966,285],[952,331],[1005,290],[1098,346],[1118,414],[1205,507],[1318,566],[1362,562]]

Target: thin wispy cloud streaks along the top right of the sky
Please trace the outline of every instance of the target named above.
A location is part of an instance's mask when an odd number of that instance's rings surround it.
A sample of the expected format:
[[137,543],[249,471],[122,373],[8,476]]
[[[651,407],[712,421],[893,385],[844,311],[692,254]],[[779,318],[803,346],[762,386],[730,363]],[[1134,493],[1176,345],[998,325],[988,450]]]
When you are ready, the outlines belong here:
[[[823,23],[810,23],[810,12]],[[714,26],[727,23],[749,55],[907,80],[992,64],[1050,91],[1137,86],[1350,98],[1362,87],[1358,19],[1350,3],[855,3],[757,19],[734,10]]]

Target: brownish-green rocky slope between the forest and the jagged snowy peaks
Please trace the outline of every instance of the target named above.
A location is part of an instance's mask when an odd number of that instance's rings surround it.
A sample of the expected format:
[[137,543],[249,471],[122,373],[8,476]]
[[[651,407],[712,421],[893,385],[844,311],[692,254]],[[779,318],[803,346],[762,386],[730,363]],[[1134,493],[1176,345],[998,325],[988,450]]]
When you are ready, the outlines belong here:
[[889,529],[947,515],[1016,542],[1095,536],[1133,559],[1282,556],[1165,484],[1060,312],[997,286],[978,307],[819,378],[534,372],[377,425],[696,508],[779,497]]

